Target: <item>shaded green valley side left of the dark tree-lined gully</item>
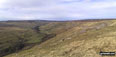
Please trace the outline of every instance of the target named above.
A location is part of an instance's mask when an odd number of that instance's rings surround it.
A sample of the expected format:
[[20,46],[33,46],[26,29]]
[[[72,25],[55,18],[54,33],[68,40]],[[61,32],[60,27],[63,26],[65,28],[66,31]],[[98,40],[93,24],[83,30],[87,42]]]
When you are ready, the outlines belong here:
[[32,26],[36,25],[30,22],[0,22],[0,57],[22,49],[23,45],[41,42],[45,34],[35,32]]

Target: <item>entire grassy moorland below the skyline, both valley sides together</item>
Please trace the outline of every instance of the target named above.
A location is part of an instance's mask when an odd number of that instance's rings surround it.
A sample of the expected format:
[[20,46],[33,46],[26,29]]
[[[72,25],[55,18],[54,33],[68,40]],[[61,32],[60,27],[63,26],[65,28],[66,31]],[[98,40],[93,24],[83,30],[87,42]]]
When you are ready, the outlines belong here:
[[15,50],[4,57],[102,57],[100,51],[116,52],[116,20],[1,23],[13,25],[0,27],[1,50]]

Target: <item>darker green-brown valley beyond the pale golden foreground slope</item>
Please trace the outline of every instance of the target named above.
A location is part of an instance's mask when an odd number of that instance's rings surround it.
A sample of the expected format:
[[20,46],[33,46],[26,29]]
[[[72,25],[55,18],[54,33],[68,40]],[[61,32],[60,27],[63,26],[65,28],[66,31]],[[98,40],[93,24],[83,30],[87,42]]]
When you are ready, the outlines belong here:
[[29,48],[28,46],[32,47],[35,44],[40,44],[72,27],[72,25],[64,26],[67,24],[70,24],[70,22],[0,22],[0,57],[16,52],[22,48],[27,49]]

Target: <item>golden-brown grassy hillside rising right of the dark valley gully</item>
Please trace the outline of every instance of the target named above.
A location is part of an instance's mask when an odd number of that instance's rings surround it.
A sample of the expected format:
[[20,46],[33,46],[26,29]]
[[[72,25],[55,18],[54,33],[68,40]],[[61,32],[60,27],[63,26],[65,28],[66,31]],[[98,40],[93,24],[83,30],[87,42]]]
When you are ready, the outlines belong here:
[[48,22],[39,29],[47,34],[41,44],[4,57],[102,57],[100,51],[116,52],[116,20]]

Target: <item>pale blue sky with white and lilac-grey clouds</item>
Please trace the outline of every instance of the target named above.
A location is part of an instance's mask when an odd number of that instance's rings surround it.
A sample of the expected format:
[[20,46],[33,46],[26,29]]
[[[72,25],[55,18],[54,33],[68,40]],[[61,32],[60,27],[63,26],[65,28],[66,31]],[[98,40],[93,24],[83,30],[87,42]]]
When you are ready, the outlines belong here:
[[0,20],[116,18],[116,0],[0,0]]

